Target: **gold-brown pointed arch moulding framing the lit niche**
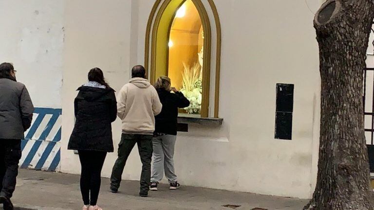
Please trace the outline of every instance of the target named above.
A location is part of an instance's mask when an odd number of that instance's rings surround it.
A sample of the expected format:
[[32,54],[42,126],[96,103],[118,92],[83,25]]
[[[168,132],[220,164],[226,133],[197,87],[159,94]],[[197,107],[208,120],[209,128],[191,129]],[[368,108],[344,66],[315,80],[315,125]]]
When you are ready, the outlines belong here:
[[[156,48],[156,38],[157,38],[157,33],[156,30],[158,29],[158,26],[160,24],[160,19],[163,15],[163,12],[167,8],[168,4],[170,3],[171,0],[165,0],[162,4],[162,0],[156,0],[155,3],[153,4],[153,7],[150,12],[150,16],[148,18],[147,22],[147,29],[146,29],[146,40],[145,40],[145,53],[144,53],[144,63],[145,63],[145,68],[149,70],[149,59],[150,59],[150,32],[152,30],[152,43],[151,43],[151,67],[150,67],[150,80],[151,82],[154,82],[155,80],[155,48]],[[185,0],[182,0],[181,2],[184,2]],[[202,104],[202,117],[208,117],[208,107],[209,107],[209,85],[210,85],[210,52],[211,52],[211,28],[210,28],[210,21],[208,14],[206,12],[206,9],[204,7],[204,4],[202,3],[201,0],[192,0],[192,2],[195,4],[200,18],[202,18],[202,23],[203,23],[203,28],[204,31],[208,32],[207,38],[204,40],[204,45],[207,46],[204,49],[204,60],[206,61],[206,65],[203,67],[203,71],[205,72],[203,75],[203,80],[206,79],[204,82],[206,86],[206,91],[203,89],[203,97],[206,99],[203,101]],[[213,2],[213,0],[208,0],[208,3],[211,7],[211,10],[213,12],[214,16],[214,21],[216,25],[216,35],[217,35],[217,52],[216,52],[216,72],[215,72],[215,96],[214,96],[214,118],[218,118],[219,116],[219,88],[220,88],[220,70],[221,70],[221,23],[218,15],[217,8]],[[161,4],[161,6],[160,6]],[[158,13],[157,8],[160,6]],[[180,6],[180,5],[179,5]],[[156,15],[156,17],[155,17]],[[154,19],[154,21],[153,21]],[[152,27],[152,22],[153,27]],[[171,23],[170,23],[171,24]],[[205,33],[206,33],[205,32]],[[167,43],[166,43],[167,45]],[[206,69],[205,69],[206,68]],[[204,87],[203,87],[204,88]],[[205,103],[204,103],[205,102]]]

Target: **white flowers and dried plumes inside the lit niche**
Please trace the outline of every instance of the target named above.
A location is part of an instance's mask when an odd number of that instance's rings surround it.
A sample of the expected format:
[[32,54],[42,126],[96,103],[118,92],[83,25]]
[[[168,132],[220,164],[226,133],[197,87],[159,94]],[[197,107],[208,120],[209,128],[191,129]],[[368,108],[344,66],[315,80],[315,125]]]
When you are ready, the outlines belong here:
[[188,114],[200,114],[202,101],[202,80],[200,79],[200,64],[194,63],[193,66],[187,66],[183,62],[183,88],[181,92],[190,102],[190,105],[184,108]]

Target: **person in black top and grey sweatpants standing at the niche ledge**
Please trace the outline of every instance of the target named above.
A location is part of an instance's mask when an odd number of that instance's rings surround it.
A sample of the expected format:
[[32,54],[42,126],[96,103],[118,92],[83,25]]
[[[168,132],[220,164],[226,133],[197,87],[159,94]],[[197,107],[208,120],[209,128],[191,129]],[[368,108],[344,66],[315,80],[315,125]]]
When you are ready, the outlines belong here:
[[[150,190],[157,191],[157,184],[162,180],[164,171],[168,178],[170,190],[180,187],[174,172],[174,146],[177,139],[178,108],[189,106],[188,99],[175,88],[170,88],[170,79],[161,76],[156,84],[158,96],[162,104],[162,110],[155,117],[155,131],[153,143],[153,170],[150,179]],[[174,93],[172,93],[173,91]]]

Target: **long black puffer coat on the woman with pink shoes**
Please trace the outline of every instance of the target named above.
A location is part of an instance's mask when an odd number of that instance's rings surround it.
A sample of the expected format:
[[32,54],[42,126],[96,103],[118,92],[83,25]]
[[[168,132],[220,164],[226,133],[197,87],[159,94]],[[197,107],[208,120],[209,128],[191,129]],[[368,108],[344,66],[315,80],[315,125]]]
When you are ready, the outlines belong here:
[[117,102],[112,88],[82,86],[75,98],[75,126],[68,149],[113,152]]

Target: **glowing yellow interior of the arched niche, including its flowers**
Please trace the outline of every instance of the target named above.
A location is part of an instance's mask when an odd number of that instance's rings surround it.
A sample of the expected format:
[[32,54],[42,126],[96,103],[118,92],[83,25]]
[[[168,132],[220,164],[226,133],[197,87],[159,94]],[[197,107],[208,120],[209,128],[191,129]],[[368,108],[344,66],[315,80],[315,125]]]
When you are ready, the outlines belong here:
[[[190,106],[181,110],[182,113],[201,114],[204,86],[203,32],[200,14],[193,0],[184,1],[170,25],[167,60],[171,85],[190,101]],[[172,47],[170,41],[173,42]]]

